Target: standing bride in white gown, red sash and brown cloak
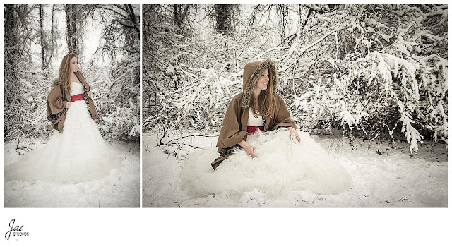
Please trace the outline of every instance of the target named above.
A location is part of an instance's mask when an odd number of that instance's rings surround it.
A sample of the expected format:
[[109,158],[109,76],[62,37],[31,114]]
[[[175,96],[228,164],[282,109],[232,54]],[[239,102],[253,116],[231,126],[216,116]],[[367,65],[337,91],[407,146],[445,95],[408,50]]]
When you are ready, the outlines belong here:
[[78,71],[77,55],[67,54],[47,97],[47,119],[55,129],[52,138],[42,150],[32,150],[6,166],[5,179],[79,183],[102,179],[121,167],[93,120],[97,112],[91,95]]

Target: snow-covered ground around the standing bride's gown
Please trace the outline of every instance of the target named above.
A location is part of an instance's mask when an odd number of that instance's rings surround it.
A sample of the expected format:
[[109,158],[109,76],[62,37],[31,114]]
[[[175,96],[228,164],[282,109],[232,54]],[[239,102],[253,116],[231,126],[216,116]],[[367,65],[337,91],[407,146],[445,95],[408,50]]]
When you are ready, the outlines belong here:
[[[26,147],[42,147],[46,140],[29,140]],[[20,158],[17,142],[4,143],[5,165]],[[22,146],[21,144],[20,146]],[[123,158],[121,169],[104,179],[77,184],[5,181],[5,207],[140,207],[140,146],[114,141],[107,143]]]

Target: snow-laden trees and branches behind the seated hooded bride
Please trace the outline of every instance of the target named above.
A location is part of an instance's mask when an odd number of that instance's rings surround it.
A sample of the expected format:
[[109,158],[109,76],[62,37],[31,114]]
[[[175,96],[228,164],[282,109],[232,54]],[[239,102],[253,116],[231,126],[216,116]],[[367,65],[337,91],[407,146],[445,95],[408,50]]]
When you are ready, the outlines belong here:
[[273,59],[278,94],[303,131],[352,150],[384,141],[415,155],[424,140],[447,145],[447,11],[446,4],[143,5],[143,131],[218,132],[242,91],[244,65]]

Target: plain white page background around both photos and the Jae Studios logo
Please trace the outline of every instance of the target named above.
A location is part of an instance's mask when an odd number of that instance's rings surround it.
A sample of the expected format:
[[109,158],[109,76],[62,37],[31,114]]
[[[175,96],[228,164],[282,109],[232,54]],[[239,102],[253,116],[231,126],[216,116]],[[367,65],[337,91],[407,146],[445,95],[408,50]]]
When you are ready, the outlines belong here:
[[[6,1],[6,4],[75,4],[74,1]],[[124,4],[126,1],[95,1]],[[127,4],[159,4],[164,1],[135,1]],[[222,4],[275,4],[275,1],[221,1]],[[357,4],[328,1],[328,4]],[[392,3],[395,3],[393,1]],[[435,1],[435,4],[448,1]],[[213,1],[171,1],[212,4]],[[297,1],[283,1],[283,4]],[[303,1],[303,4],[319,1]],[[363,2],[362,2],[363,3]],[[391,1],[374,1],[391,4]],[[425,4],[403,1],[403,4]],[[76,4],[93,4],[77,1]],[[400,3],[399,3],[400,4]],[[449,13],[451,11],[449,10]],[[4,20],[4,8],[0,11]],[[449,20],[448,29],[450,30]],[[4,44],[4,25],[0,41]],[[450,45],[448,47],[450,53]],[[4,46],[0,72],[4,78]],[[449,73],[450,78],[450,73]],[[4,84],[0,83],[1,92]],[[4,94],[1,93],[1,112]],[[450,107],[449,107],[450,108]],[[451,114],[449,114],[450,119]],[[7,116],[6,116],[7,117]],[[4,136],[4,121],[1,120]],[[4,146],[1,142],[1,160]],[[451,148],[448,152],[450,153]],[[450,173],[450,172],[449,172]],[[5,246],[450,246],[451,210],[440,209],[16,209],[4,207],[4,170],[0,169],[0,245]],[[449,184],[450,191],[450,184]],[[451,205],[449,198],[448,205]],[[11,236],[11,219],[23,225],[30,236]]]

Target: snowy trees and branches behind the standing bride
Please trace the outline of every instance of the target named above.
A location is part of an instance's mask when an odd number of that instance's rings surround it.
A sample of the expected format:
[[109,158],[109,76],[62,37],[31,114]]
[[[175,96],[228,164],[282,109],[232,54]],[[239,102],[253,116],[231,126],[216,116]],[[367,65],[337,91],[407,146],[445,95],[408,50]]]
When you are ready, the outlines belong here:
[[140,6],[6,4],[4,139],[48,138],[46,99],[61,59],[78,54],[102,136],[139,140]]

